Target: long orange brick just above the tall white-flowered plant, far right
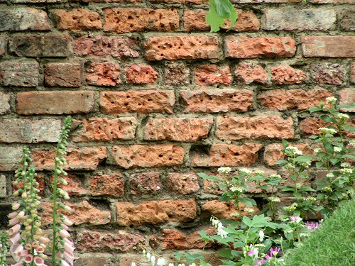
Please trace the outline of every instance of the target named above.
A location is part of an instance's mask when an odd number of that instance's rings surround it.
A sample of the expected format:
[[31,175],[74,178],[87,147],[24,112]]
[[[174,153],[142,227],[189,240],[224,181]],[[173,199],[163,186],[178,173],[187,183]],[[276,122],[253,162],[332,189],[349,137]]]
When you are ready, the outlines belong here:
[[284,111],[288,109],[305,110],[325,102],[327,97],[332,96],[326,89],[273,89],[261,92],[258,95],[260,104],[268,109]]

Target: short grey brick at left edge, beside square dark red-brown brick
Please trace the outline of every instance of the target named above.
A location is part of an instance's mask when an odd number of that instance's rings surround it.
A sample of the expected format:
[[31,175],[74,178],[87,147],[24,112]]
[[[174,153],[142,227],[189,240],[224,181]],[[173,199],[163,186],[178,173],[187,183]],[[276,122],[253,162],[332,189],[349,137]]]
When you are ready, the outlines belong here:
[[13,87],[38,86],[38,62],[1,62],[0,84]]

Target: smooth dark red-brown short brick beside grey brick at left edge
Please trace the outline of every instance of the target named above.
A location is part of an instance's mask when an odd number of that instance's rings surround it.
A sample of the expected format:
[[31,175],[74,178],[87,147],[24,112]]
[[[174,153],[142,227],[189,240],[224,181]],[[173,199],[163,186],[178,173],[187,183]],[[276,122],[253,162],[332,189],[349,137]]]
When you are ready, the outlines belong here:
[[80,87],[81,65],[78,63],[50,63],[45,65],[45,84],[50,87]]

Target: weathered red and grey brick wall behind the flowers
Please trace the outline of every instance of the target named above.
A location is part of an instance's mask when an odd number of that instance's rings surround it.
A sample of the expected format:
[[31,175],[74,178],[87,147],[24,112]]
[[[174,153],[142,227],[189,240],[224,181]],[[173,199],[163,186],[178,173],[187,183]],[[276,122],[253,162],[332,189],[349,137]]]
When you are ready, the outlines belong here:
[[312,153],[305,139],[322,126],[299,111],[354,102],[355,2],[234,3],[234,30],[209,33],[203,0],[0,0],[1,228],[21,145],[49,195],[67,114],[77,265],[129,265],[140,243],[202,248],[209,215],[234,207],[196,172],[286,179],[280,140]]

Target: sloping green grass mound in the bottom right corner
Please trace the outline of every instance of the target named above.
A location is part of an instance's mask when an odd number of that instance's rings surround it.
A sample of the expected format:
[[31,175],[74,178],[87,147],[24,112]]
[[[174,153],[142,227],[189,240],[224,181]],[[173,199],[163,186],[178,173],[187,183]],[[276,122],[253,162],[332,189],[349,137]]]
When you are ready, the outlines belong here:
[[285,256],[288,266],[355,265],[355,199],[342,203],[300,248]]

